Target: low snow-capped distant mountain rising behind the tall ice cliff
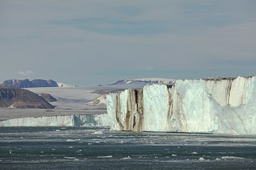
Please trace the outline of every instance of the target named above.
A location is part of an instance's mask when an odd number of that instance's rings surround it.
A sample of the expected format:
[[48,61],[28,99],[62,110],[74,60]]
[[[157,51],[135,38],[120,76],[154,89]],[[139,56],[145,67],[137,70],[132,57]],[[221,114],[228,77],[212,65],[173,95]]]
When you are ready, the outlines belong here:
[[133,83],[145,83],[145,84],[166,84],[172,85],[174,83],[174,79],[168,78],[140,78],[134,80],[118,80],[111,85],[123,85],[123,84],[133,84]]

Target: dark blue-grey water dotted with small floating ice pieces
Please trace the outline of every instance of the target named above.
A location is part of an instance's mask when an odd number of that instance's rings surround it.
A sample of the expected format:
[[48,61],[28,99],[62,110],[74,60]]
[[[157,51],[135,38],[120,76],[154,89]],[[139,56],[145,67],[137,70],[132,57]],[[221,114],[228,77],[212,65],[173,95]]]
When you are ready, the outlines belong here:
[[0,127],[0,169],[256,169],[255,137]]

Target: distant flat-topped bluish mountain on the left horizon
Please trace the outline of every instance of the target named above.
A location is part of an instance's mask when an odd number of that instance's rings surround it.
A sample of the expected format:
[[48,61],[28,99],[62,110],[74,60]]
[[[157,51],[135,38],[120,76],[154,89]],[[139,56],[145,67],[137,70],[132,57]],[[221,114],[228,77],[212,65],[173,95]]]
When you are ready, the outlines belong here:
[[6,80],[2,86],[16,87],[16,88],[31,88],[31,87],[58,87],[56,81],[53,80],[42,80],[35,79],[29,81],[28,79],[24,80]]

